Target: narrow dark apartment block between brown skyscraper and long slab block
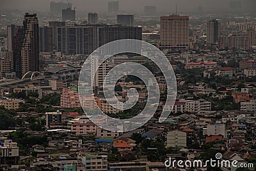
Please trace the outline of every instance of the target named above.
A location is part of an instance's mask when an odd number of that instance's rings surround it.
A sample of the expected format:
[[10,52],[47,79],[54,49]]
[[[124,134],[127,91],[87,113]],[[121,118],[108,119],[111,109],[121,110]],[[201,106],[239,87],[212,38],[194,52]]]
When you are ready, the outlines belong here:
[[52,52],[52,27],[39,27],[39,51]]

